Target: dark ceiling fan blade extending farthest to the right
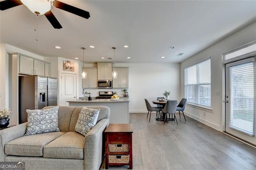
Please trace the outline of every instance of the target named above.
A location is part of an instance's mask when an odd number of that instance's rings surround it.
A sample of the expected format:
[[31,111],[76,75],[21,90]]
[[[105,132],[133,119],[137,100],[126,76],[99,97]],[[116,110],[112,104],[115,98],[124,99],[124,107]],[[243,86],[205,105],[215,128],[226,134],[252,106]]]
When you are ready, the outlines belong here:
[[53,1],[53,5],[54,5],[56,8],[62,9],[62,10],[64,10],[64,11],[70,12],[70,13],[72,13],[72,14],[81,16],[81,17],[86,18],[86,19],[88,19],[88,18],[90,17],[90,13],[89,13],[89,12],[87,12],[87,11],[85,11],[85,10],[81,10],[81,9],[76,8],[76,7],[74,7],[74,6],[65,4],[65,3],[60,2],[60,1],[58,1],[58,0],[54,0],[54,1]]

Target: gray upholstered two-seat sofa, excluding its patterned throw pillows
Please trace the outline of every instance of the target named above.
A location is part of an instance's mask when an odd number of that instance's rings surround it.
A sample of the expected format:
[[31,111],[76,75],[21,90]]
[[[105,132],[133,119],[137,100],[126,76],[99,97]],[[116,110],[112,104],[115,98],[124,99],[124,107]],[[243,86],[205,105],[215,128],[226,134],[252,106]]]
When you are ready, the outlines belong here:
[[100,109],[97,124],[86,136],[74,130],[82,106],[59,106],[60,132],[24,136],[27,122],[0,130],[0,162],[25,162],[26,170],[99,170],[110,108],[86,107]]

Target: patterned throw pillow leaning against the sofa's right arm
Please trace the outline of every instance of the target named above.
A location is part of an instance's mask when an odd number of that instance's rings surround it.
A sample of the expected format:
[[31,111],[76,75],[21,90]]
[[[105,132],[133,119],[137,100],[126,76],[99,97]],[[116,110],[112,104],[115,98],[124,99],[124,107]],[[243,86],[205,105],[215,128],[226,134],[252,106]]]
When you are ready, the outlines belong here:
[[82,107],[76,122],[75,132],[86,135],[95,126],[100,109]]

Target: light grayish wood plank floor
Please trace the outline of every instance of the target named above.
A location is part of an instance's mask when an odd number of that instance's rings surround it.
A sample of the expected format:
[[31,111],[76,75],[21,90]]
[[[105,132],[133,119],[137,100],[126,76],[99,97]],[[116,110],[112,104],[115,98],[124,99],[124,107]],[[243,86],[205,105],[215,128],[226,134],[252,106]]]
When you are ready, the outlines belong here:
[[145,113],[130,114],[134,170],[256,170],[256,148],[187,116],[185,122],[176,114],[178,124],[155,117],[148,122]]

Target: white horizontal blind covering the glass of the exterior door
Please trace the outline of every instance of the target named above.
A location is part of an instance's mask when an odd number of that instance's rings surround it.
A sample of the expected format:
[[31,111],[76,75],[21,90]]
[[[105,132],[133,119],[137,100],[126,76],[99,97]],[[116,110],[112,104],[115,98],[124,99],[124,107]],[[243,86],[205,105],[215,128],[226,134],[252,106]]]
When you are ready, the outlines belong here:
[[254,62],[229,67],[228,126],[254,136]]

